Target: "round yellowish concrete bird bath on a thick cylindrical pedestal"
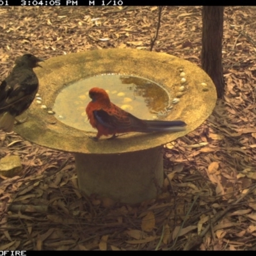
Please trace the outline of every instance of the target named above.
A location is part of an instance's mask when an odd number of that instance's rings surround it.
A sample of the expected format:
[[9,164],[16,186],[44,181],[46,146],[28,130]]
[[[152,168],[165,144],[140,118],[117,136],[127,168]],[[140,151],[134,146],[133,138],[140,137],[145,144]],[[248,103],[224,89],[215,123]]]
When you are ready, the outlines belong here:
[[[216,103],[214,84],[203,70],[165,53],[96,50],[51,58],[42,67],[35,68],[42,104],[34,100],[25,114],[28,120],[15,125],[14,131],[38,145],[74,153],[79,188],[86,195],[95,193],[119,202],[134,204],[157,196],[163,186],[161,147],[196,129],[211,115]],[[188,124],[186,131],[132,132],[115,140],[103,137],[95,142],[88,138],[95,136],[92,130],[77,129],[61,122],[58,116],[49,115],[63,88],[102,74],[143,77],[161,84],[168,92],[170,106],[159,119],[183,120]],[[92,87],[95,84],[85,85],[84,92]],[[47,109],[42,109],[42,105]]]

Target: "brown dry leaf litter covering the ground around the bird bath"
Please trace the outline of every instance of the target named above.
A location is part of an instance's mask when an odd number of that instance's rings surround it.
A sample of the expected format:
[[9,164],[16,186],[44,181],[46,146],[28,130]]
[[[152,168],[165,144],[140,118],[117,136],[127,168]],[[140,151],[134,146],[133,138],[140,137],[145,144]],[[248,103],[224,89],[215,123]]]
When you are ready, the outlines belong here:
[[[105,48],[150,49],[156,6],[0,8],[1,80],[26,52],[52,58]],[[72,154],[0,132],[0,250],[255,250],[256,8],[226,7],[226,93],[198,129],[164,147],[156,200],[114,204],[83,196]],[[200,66],[202,8],[167,6],[153,51]]]

